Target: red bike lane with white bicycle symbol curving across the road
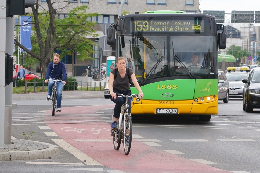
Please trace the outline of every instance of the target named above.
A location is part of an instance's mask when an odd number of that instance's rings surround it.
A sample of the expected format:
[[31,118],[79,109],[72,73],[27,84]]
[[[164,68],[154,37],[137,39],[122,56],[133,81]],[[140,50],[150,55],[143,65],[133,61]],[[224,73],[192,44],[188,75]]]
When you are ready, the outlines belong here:
[[[44,119],[47,125],[71,146],[115,170],[126,173],[229,172],[167,153],[136,139],[132,139],[128,156],[124,154],[123,145],[118,151],[114,150],[110,123],[105,122],[100,116],[91,115],[97,114],[100,109],[113,107],[114,105],[67,107],[54,116],[51,116],[51,110],[47,111],[48,115],[44,115]],[[88,115],[83,115],[84,113]]]

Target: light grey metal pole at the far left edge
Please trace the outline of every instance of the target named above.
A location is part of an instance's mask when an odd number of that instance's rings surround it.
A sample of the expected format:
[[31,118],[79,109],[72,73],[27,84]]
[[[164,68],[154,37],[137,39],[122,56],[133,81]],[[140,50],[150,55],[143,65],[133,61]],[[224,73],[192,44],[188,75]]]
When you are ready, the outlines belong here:
[[[5,40],[6,40],[6,1],[0,1],[0,58],[5,62]],[[5,98],[5,63],[0,63],[0,95]],[[4,127],[5,127],[5,100],[0,100],[0,148],[4,148]]]

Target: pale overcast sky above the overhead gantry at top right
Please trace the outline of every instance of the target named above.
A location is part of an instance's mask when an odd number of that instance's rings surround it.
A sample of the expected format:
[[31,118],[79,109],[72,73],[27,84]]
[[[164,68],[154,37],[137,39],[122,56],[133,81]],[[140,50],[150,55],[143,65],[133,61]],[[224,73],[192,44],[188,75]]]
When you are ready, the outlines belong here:
[[235,11],[260,11],[260,0],[199,0],[200,10],[224,10],[225,13]]

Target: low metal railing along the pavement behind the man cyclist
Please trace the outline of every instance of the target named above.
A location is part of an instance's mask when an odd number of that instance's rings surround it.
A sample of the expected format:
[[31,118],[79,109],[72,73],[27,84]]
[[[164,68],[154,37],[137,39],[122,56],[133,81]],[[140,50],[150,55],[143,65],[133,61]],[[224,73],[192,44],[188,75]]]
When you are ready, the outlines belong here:
[[[73,82],[73,85],[68,85],[69,83]],[[77,82],[77,85],[76,85]],[[34,86],[27,86],[29,83],[33,83]],[[36,83],[42,83],[42,86],[36,86]],[[69,87],[73,87],[73,90],[75,90],[75,88],[80,87],[80,90],[82,91],[83,88],[86,88],[87,91],[103,91],[102,88],[104,88],[106,86],[107,82],[83,82],[83,81],[67,81],[66,84],[66,88],[67,90],[69,90]],[[77,87],[76,87],[77,86]],[[34,88],[34,93],[36,92],[37,88],[42,88],[42,91],[44,92],[44,88],[48,88],[48,86],[45,86],[44,81],[41,82],[27,82],[25,81],[25,91],[24,93],[27,93],[27,89],[28,88]],[[63,86],[63,90],[64,90],[64,86]]]

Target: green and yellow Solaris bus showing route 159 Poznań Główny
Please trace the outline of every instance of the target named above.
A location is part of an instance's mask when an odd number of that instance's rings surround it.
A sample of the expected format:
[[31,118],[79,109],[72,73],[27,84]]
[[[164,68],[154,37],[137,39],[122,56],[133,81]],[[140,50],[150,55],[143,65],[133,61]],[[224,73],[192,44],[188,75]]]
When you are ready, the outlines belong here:
[[218,48],[226,48],[226,33],[214,16],[182,11],[123,15],[108,27],[107,43],[116,44],[116,57],[128,60],[143,90],[132,114],[197,115],[210,121],[218,113]]

